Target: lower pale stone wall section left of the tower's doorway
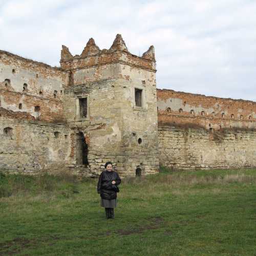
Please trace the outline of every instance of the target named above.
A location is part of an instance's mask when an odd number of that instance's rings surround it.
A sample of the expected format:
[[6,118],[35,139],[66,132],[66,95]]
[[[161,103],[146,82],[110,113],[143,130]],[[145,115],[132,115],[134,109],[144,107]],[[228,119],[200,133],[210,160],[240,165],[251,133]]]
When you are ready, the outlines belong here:
[[67,127],[0,117],[0,169],[37,173],[69,162]]

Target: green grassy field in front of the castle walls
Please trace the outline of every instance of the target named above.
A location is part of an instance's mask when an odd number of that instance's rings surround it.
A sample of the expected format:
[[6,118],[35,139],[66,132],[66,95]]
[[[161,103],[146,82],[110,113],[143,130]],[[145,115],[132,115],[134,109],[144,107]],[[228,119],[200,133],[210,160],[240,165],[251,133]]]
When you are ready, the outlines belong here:
[[0,173],[0,255],[256,255],[256,169],[127,178],[114,220],[96,183]]

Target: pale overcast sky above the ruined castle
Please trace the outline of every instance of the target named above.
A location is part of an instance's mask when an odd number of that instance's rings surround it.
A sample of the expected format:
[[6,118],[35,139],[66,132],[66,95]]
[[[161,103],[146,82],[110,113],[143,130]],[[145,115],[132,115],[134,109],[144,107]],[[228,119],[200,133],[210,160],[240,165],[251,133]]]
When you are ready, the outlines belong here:
[[52,66],[117,33],[155,46],[158,88],[256,101],[256,0],[0,0],[0,49]]

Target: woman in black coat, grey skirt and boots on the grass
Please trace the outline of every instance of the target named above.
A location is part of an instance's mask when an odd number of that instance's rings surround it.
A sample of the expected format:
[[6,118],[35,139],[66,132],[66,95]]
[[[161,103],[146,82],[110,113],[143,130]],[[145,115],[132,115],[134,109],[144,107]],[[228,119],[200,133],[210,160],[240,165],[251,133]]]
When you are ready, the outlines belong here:
[[116,207],[118,185],[121,179],[117,172],[114,172],[112,162],[105,163],[105,170],[100,174],[97,185],[100,194],[100,206],[105,207],[106,218],[114,219],[114,208]]

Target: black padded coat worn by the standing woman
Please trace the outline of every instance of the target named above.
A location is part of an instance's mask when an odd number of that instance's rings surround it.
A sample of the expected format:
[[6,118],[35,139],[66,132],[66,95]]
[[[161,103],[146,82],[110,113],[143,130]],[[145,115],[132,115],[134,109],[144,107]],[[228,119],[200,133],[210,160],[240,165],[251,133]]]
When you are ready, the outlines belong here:
[[[112,184],[112,181],[115,181],[116,184]],[[116,186],[121,183],[121,179],[117,172],[113,170],[109,172],[108,170],[104,170],[100,176],[97,185],[98,194],[100,194],[103,199],[116,199]]]

